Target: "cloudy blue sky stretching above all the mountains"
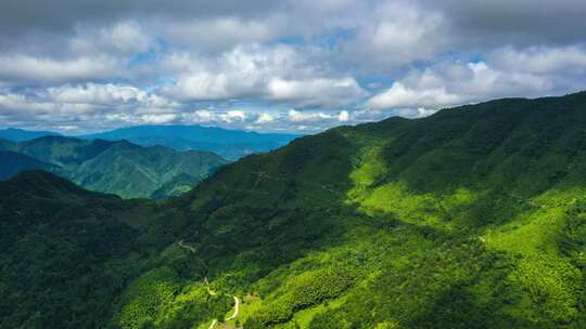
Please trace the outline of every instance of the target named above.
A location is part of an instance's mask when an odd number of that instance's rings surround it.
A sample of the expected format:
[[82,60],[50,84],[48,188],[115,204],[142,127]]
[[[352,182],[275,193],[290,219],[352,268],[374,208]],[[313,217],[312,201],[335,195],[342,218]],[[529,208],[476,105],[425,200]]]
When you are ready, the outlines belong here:
[[0,128],[313,133],[586,89],[584,0],[2,0]]

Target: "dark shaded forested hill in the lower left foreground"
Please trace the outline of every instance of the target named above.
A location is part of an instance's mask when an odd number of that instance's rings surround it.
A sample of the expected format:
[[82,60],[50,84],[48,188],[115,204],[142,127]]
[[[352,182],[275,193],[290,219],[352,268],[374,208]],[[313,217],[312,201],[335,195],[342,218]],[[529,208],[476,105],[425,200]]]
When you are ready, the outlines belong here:
[[143,252],[111,215],[131,206],[40,171],[0,182],[0,328],[102,327]]

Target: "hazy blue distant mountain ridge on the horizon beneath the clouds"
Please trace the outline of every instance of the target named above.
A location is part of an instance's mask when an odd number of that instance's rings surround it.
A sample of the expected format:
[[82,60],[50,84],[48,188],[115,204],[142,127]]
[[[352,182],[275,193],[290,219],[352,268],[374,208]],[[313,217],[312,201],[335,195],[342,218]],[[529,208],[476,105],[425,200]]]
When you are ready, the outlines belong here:
[[177,150],[213,152],[235,160],[253,153],[276,149],[297,135],[257,133],[202,126],[138,126],[79,136],[107,141],[128,140],[143,146],[164,145]]

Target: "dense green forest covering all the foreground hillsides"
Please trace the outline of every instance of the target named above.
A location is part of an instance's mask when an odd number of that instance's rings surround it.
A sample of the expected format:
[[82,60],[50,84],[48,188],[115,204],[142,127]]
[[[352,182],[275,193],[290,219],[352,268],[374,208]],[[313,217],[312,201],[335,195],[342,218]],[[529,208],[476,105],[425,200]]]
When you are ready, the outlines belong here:
[[[578,93],[336,128],[245,157],[156,203],[61,187],[17,195],[18,208],[2,190],[2,232],[17,233],[2,234],[0,290],[11,298],[0,327],[584,328],[585,111]],[[74,189],[46,175],[48,186]],[[76,216],[58,211],[69,202],[99,206],[95,221],[126,226],[95,237],[109,239],[103,258],[51,267],[24,236],[47,227],[52,244],[76,244],[42,224],[55,211]],[[42,271],[21,278],[23,260]],[[124,264],[107,272],[117,285],[48,280],[106,264]],[[24,285],[86,313],[55,319]]]

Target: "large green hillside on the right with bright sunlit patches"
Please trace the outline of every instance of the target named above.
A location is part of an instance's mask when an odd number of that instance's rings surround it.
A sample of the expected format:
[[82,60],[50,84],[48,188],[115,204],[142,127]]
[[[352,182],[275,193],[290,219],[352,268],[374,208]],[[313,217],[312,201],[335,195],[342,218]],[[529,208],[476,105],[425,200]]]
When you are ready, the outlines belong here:
[[[189,275],[240,297],[245,328],[584,327],[585,111],[494,101],[244,158],[178,206]],[[181,280],[115,323],[198,323]]]

